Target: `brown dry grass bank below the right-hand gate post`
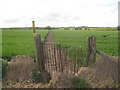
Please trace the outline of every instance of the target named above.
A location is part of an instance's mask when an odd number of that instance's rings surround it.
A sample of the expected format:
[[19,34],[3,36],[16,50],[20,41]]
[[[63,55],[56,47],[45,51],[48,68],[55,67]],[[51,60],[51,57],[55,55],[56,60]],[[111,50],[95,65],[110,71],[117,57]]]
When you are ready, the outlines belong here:
[[112,88],[118,82],[118,59],[102,55],[89,67],[81,67],[78,76],[87,80],[93,88]]

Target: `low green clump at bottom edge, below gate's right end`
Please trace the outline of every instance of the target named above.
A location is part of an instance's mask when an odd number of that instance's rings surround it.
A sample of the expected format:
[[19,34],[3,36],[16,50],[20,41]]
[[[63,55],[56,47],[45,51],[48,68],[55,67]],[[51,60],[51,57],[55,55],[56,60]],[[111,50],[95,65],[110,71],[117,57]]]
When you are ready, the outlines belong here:
[[72,84],[73,88],[91,88],[84,79],[78,77],[72,79]]

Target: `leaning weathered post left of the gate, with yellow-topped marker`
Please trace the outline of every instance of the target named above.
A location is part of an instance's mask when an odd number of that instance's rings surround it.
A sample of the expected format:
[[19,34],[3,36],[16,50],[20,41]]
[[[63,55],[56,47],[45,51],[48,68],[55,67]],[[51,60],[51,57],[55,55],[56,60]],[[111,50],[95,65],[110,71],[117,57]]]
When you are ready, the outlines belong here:
[[48,72],[45,71],[45,62],[43,57],[43,43],[41,42],[40,35],[37,35],[35,32],[35,22],[32,21],[33,35],[34,35],[34,46],[35,46],[35,57],[36,63],[38,65],[38,70],[41,74],[41,81],[46,83],[49,82],[51,76]]

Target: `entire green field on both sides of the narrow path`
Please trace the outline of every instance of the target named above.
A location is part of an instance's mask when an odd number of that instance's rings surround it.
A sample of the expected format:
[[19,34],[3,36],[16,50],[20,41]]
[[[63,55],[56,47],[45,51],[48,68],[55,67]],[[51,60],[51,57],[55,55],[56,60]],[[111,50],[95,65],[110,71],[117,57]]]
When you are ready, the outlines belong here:
[[[118,56],[118,31],[94,30],[51,30],[54,42],[60,43],[64,48],[79,48],[82,46],[86,54],[86,37],[97,37],[97,49],[108,55]],[[48,30],[37,30],[42,40]],[[106,36],[106,37],[104,37]],[[34,41],[32,30],[2,30],[2,56],[10,58],[15,55],[34,56]]]

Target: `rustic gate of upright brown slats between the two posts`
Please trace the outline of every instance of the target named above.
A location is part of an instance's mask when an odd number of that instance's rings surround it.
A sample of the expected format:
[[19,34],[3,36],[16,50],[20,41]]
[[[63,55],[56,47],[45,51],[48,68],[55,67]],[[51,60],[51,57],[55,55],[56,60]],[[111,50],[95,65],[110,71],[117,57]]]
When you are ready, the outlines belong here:
[[42,45],[46,71],[51,74],[61,72],[75,75],[78,73],[80,61],[83,60],[81,48],[62,48],[60,44],[52,42],[43,42]]

